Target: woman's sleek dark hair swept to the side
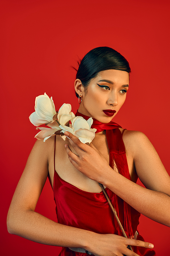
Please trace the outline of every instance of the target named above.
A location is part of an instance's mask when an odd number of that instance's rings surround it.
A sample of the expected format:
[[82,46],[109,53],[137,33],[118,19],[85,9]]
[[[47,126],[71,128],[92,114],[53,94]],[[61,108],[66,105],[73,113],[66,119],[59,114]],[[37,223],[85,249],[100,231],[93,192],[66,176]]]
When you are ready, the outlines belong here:
[[[85,89],[90,80],[98,75],[100,71],[108,69],[116,69],[131,72],[129,62],[114,49],[102,46],[92,49],[82,60],[78,61],[79,68],[76,79],[80,79]],[[75,95],[79,95],[75,92]]]

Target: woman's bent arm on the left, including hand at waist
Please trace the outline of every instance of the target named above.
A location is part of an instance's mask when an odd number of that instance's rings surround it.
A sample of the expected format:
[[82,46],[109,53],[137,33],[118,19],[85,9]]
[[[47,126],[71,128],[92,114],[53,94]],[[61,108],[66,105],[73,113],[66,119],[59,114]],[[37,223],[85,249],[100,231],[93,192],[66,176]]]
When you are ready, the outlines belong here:
[[116,252],[137,255],[126,248],[128,244],[149,248],[149,243],[143,241],[69,227],[34,211],[48,176],[48,152],[54,148],[51,143],[54,143],[52,138],[46,142],[36,141],[30,153],[8,211],[8,232],[38,243],[85,248],[101,256],[113,256]]

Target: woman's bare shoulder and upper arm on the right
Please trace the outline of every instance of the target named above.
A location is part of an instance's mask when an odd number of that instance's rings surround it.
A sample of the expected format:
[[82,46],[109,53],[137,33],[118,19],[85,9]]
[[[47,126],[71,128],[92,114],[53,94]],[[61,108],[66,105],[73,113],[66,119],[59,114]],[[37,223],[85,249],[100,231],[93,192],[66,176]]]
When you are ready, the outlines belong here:
[[147,136],[140,131],[125,130],[123,142],[141,182],[149,189],[170,195],[170,177]]

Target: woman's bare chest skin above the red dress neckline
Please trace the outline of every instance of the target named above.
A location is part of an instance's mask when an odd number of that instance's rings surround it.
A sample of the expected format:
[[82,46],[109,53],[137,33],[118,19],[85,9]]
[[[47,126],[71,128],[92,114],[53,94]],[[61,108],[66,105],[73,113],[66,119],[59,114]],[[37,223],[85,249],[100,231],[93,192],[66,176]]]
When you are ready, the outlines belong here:
[[[55,171],[58,173],[61,179],[74,185],[75,187],[80,188],[81,190],[100,193],[101,188],[98,182],[89,179],[84,174],[79,172],[69,161],[68,155],[65,150],[65,144],[67,143],[70,146],[70,149],[73,153],[77,154],[71,147],[69,140],[63,141],[63,139],[55,142]],[[96,134],[95,139],[92,141],[93,145],[97,148],[98,151],[104,156],[104,158],[109,163],[109,149],[107,144],[106,135],[104,133]],[[133,165],[133,159],[131,159],[130,154],[127,154],[128,166],[132,180],[135,181],[135,171]],[[114,167],[115,171],[118,172],[116,166]],[[49,175],[51,184],[53,186],[53,176],[54,176],[54,155],[49,158]]]

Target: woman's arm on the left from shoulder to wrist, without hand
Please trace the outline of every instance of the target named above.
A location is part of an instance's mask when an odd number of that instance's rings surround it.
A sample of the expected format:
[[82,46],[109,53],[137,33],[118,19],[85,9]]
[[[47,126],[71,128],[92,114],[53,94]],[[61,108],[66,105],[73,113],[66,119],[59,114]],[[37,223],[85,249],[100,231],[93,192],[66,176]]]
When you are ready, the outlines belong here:
[[34,211],[48,177],[48,152],[54,148],[53,138],[36,141],[8,211],[7,229],[38,243],[80,247],[88,231],[58,224]]

